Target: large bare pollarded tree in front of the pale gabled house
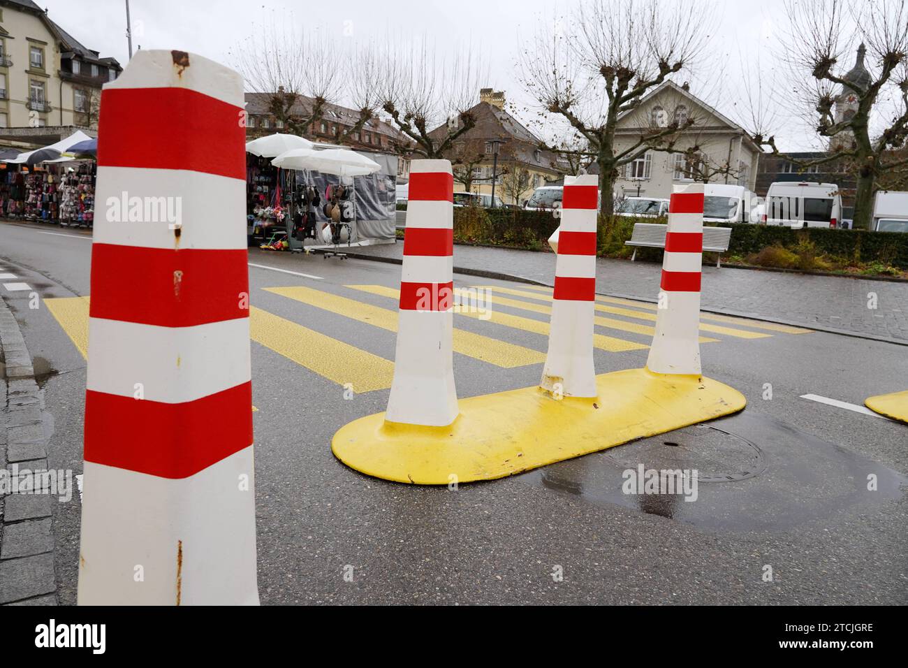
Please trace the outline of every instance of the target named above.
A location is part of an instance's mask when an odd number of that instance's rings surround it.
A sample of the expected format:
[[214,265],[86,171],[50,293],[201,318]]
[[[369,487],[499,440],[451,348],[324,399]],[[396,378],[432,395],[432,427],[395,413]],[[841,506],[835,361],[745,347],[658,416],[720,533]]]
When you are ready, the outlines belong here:
[[543,25],[521,55],[523,84],[541,114],[565,120],[586,142],[587,151],[576,155],[597,163],[603,213],[612,211],[621,165],[693,124],[691,117],[684,125],[672,117],[665,125],[646,125],[636,141],[616,148],[619,117],[693,64],[706,45],[711,17],[700,0],[594,0],[580,5],[568,24]]

